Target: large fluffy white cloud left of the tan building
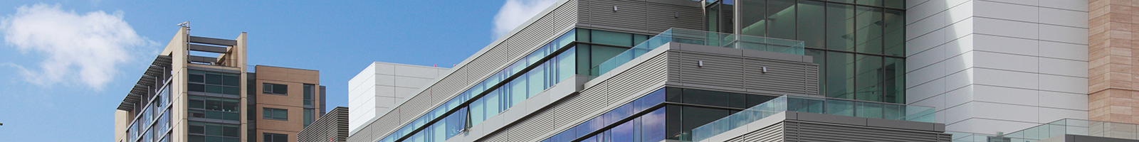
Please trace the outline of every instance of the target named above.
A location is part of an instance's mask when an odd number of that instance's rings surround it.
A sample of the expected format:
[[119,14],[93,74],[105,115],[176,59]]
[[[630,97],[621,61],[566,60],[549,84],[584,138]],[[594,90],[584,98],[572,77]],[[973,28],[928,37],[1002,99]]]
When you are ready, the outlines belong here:
[[151,43],[134,33],[122,11],[79,15],[44,3],[16,8],[0,18],[0,32],[9,47],[43,58],[38,68],[7,64],[41,86],[80,83],[103,90],[138,47]]

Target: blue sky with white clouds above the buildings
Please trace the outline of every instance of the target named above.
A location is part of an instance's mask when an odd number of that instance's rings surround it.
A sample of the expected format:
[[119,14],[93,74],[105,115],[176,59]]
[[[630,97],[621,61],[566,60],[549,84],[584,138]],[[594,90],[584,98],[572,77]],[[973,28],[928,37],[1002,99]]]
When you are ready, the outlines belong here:
[[247,32],[249,65],[320,70],[335,107],[371,61],[459,64],[550,1],[0,1],[0,141],[114,140],[115,107],[182,22]]

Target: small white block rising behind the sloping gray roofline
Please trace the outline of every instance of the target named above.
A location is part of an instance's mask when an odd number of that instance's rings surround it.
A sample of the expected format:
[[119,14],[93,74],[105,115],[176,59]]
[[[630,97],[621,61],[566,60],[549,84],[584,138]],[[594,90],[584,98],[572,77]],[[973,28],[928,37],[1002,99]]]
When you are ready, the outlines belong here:
[[349,134],[384,116],[425,87],[448,68],[372,62],[349,80]]

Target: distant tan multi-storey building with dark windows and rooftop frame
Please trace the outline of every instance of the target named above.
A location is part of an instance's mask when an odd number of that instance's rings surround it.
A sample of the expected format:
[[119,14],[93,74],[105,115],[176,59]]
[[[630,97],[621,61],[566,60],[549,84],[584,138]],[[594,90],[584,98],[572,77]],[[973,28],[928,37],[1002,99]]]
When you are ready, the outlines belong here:
[[245,33],[188,32],[174,34],[115,110],[116,142],[295,142],[323,114],[320,72],[246,66]]

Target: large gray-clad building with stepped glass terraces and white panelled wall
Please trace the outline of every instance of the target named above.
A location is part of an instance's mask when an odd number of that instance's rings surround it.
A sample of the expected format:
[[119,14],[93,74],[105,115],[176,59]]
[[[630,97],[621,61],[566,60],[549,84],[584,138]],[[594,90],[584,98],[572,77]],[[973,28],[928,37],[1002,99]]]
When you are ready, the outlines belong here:
[[1134,141],[1134,3],[559,0],[349,141]]

